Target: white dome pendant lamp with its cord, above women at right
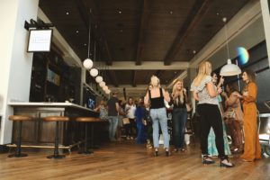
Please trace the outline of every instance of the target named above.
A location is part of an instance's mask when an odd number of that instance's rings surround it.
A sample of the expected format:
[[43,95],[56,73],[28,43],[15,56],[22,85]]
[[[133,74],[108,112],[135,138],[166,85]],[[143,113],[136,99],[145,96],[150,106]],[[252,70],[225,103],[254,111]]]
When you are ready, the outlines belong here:
[[231,59],[229,58],[228,30],[227,30],[227,25],[226,25],[227,18],[223,17],[222,21],[224,22],[228,60],[227,60],[227,65],[221,67],[220,76],[236,76],[236,75],[241,74],[241,69],[237,65],[232,64]]

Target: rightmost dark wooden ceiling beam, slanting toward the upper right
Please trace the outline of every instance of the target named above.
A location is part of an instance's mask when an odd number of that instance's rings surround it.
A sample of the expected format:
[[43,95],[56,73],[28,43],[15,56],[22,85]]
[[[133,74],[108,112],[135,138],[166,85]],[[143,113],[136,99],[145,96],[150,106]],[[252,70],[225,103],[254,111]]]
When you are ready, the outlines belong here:
[[195,25],[199,23],[205,14],[213,0],[196,0],[193,4],[193,8],[190,10],[187,18],[184,21],[184,24],[179,29],[177,36],[175,37],[174,42],[172,43],[170,49],[166,53],[164,58],[164,65],[170,65],[173,59],[175,58],[176,53],[184,45],[184,40],[188,34],[193,30]]

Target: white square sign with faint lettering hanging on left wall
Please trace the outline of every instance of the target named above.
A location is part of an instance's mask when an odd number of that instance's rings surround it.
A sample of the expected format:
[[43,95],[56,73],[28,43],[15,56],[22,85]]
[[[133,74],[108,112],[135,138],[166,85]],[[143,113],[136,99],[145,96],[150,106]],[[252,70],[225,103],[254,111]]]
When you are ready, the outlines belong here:
[[27,52],[49,52],[52,30],[30,30]]

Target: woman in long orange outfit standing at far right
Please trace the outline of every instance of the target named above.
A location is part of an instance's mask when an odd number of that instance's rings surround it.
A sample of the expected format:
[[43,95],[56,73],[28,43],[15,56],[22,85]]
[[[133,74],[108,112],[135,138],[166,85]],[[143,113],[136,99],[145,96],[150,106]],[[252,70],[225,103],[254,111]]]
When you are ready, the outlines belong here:
[[245,132],[244,154],[241,158],[251,162],[261,158],[261,146],[257,132],[257,85],[255,73],[252,70],[246,69],[242,78],[246,85],[243,95],[239,95],[243,99]]

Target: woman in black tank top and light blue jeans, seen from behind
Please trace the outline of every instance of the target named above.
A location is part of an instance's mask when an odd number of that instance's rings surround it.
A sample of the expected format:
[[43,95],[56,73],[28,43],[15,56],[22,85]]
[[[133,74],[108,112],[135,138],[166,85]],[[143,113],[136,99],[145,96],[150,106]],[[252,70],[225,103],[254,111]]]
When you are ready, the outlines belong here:
[[148,90],[145,96],[145,104],[148,107],[150,103],[150,116],[153,121],[153,139],[155,156],[158,156],[158,137],[159,137],[159,126],[160,123],[161,131],[164,137],[164,148],[166,149],[166,156],[169,156],[169,136],[167,132],[167,117],[166,117],[166,107],[164,100],[166,102],[170,101],[169,94],[160,87],[159,79],[157,76],[151,76],[151,89]]

